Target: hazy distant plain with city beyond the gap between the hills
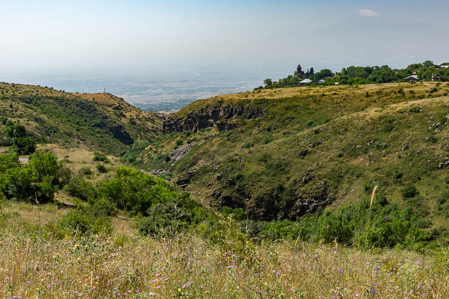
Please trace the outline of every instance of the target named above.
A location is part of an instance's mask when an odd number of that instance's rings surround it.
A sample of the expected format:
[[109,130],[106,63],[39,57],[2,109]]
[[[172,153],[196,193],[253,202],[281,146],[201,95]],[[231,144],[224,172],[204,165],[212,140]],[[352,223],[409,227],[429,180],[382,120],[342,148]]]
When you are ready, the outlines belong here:
[[143,111],[173,111],[213,96],[253,90],[263,85],[268,74],[285,77],[286,72],[270,69],[251,73],[238,71],[155,72],[157,75],[122,76],[119,72],[97,75],[16,75],[0,76],[0,81],[53,87],[78,93],[104,92],[123,98]]

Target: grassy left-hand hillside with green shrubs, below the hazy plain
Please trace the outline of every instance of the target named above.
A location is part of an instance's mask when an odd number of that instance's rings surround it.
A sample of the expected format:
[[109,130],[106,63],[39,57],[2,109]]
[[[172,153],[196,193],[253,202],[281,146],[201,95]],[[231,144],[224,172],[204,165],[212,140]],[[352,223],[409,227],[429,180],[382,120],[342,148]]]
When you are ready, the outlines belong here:
[[52,143],[113,153],[124,152],[133,140],[153,138],[162,124],[159,115],[110,94],[70,94],[5,83],[0,83],[0,111],[0,116],[20,121]]

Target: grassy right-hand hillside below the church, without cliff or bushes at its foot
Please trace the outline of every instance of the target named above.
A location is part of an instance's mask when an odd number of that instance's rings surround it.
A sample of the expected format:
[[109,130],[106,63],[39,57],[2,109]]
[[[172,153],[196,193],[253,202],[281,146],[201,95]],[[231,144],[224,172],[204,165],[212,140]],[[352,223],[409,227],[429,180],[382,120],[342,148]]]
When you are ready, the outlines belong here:
[[[379,184],[401,206],[399,190],[411,182],[429,204],[434,226],[447,226],[434,207],[448,189],[448,170],[438,164],[449,155],[444,123],[449,86],[430,93],[434,87],[431,82],[303,87],[200,100],[172,117],[228,103],[266,108],[266,113],[232,120],[240,127],[231,131],[193,134],[189,139],[206,142],[176,162],[157,157],[188,138],[167,135],[147,148],[140,162],[150,170],[167,167],[174,179],[190,176],[187,189],[213,205],[240,206],[266,218],[294,219],[305,212],[297,208],[298,200],[319,199],[323,188],[335,199],[332,209],[356,203],[369,196],[363,183]],[[214,191],[219,200],[211,197]]]

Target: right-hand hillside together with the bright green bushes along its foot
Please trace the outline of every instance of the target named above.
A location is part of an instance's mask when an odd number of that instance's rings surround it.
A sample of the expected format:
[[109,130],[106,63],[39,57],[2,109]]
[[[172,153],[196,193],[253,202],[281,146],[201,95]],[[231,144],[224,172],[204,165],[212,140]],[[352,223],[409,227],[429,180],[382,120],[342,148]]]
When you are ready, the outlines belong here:
[[[211,106],[266,110],[229,119],[238,124],[233,130],[156,138],[133,161],[217,209],[252,219],[244,224],[251,236],[367,239],[370,246],[421,250],[446,240],[449,229],[449,98],[448,87],[437,84],[297,88],[198,101],[173,117]],[[171,158],[187,145],[193,147],[185,156]]]

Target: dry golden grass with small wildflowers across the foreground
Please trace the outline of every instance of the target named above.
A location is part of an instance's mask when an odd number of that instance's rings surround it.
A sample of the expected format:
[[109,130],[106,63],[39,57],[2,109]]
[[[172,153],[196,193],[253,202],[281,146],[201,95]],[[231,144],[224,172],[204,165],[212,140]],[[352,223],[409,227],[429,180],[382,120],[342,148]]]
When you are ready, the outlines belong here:
[[0,226],[1,298],[449,297],[447,264],[411,252],[232,236],[213,246],[197,233],[149,239],[132,228],[54,239],[40,222],[30,238],[19,224]]

